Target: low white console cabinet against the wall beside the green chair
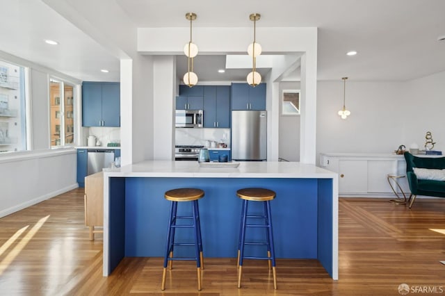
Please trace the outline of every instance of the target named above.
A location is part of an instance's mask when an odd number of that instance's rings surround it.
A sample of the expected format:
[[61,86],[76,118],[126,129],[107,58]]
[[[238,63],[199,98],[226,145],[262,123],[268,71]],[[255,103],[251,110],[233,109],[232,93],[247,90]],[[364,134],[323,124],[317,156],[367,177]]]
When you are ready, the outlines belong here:
[[[394,197],[387,175],[406,174],[405,158],[396,154],[322,153],[320,166],[339,174],[340,197]],[[398,182],[410,192],[406,178]]]

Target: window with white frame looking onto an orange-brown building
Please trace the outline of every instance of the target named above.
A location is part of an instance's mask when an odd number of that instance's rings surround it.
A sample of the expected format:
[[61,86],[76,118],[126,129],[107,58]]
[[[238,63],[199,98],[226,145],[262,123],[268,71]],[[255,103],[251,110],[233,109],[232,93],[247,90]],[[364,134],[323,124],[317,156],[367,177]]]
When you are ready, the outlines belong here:
[[[74,86],[51,79],[49,83],[51,101],[51,147],[74,143]],[[51,98],[54,98],[51,99]]]

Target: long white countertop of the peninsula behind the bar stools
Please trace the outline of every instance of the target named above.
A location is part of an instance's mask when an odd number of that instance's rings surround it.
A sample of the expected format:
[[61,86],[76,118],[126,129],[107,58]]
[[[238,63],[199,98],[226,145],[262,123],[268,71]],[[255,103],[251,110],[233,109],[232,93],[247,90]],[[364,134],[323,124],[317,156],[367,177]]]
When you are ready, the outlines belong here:
[[188,178],[314,178],[337,179],[316,165],[275,161],[240,161],[236,168],[200,167],[197,161],[144,161],[104,170],[104,176]]

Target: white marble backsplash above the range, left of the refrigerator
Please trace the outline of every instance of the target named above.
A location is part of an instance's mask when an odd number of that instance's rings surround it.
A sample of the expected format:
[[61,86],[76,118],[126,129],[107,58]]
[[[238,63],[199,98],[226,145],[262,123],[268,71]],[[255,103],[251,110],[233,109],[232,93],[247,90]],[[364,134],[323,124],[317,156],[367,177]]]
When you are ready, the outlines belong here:
[[175,131],[175,145],[206,145],[206,141],[224,142],[230,147],[230,129],[181,129]]

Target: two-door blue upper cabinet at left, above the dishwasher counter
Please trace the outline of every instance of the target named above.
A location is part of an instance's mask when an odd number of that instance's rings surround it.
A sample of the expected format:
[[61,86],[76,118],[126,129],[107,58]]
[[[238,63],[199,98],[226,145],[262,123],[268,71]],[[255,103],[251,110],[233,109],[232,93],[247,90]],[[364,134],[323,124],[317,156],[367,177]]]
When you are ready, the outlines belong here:
[[82,126],[120,126],[120,83],[82,83]]

